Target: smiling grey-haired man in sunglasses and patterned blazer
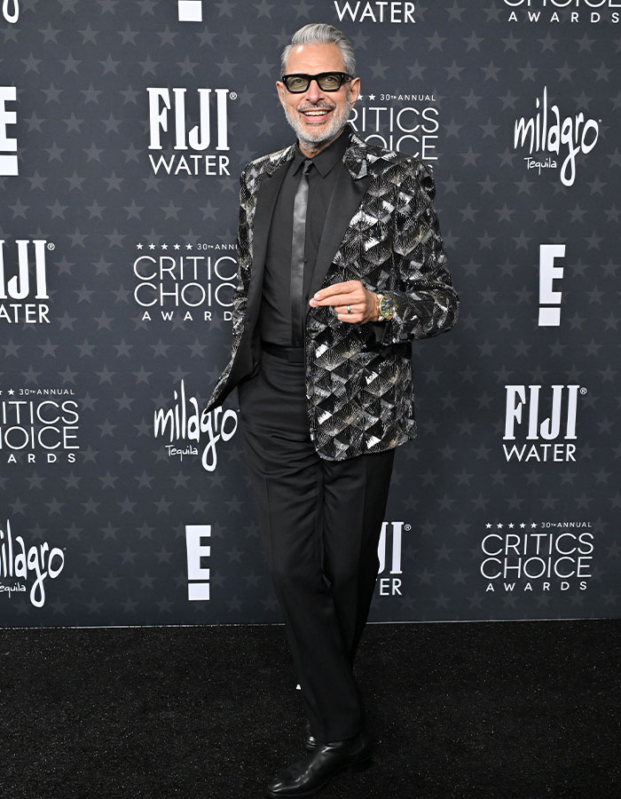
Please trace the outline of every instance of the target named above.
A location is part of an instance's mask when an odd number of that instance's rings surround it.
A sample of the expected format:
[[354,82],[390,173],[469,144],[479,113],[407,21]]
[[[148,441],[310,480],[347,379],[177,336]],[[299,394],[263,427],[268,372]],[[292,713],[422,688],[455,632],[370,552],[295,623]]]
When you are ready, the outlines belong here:
[[347,124],[349,41],[301,28],[276,83],[297,143],[241,175],[232,357],[240,430],[308,716],[310,754],[268,795],[317,793],[365,768],[352,674],[378,571],[395,447],[413,439],[411,341],[452,328],[457,297],[428,168]]

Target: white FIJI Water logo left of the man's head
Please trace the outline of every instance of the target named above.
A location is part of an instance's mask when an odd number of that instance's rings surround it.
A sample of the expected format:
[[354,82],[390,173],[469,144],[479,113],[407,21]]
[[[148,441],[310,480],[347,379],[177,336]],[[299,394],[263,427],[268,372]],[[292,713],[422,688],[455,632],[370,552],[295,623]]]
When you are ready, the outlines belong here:
[[[149,88],[149,161],[155,175],[230,175],[228,89]],[[188,123],[193,119],[194,124]],[[166,150],[167,154],[157,155]],[[216,152],[210,152],[210,151]],[[170,152],[172,151],[172,152]]]

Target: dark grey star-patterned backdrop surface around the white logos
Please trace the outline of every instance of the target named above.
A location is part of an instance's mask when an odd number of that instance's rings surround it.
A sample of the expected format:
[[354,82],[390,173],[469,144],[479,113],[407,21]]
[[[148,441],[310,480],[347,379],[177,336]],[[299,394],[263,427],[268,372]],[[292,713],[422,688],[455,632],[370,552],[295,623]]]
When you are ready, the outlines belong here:
[[[1,623],[279,621],[239,433],[216,443],[214,471],[200,455],[169,455],[154,438],[153,413],[173,407],[182,380],[199,407],[208,399],[230,352],[224,309],[212,303],[210,320],[205,308],[192,320],[181,312],[167,320],[161,311],[170,305],[156,305],[144,320],[133,264],[138,254],[230,254],[218,248],[235,240],[240,170],[292,140],[273,91],[280,48],[317,19],[343,28],[356,47],[357,110],[379,115],[373,132],[398,138],[388,110],[377,107],[432,109],[436,206],[461,299],[460,322],[445,340],[414,344],[420,432],[397,450],[387,510],[387,562],[394,522],[404,523],[401,572],[387,566],[379,575],[389,590],[382,594],[378,583],[372,619],[617,614],[621,39],[614,26],[590,24],[584,12],[570,23],[569,10],[558,10],[560,23],[530,23],[522,13],[509,22],[503,4],[453,0],[416,3],[411,25],[338,20],[333,4],[266,0],[204,3],[202,23],[180,23],[176,5],[20,0],[17,24],[0,18],[0,85],[17,90],[10,108],[20,164],[18,177],[0,176],[7,273],[17,239],[54,247],[46,251],[49,324],[0,320],[0,400],[53,387],[72,392],[67,399],[79,414],[75,460],[60,449],[58,462],[47,463],[35,447],[35,463],[20,451],[8,463],[9,450],[0,450],[0,528],[9,519],[13,535],[48,542],[65,558],[59,577],[45,582],[43,607],[28,594],[4,594]],[[197,122],[199,88],[234,93],[230,174],[153,173],[146,88],[157,86],[187,90],[189,125]],[[600,121],[593,151],[578,155],[573,186],[562,185],[558,170],[528,170],[514,146],[515,120],[534,114],[544,86],[562,115]],[[387,94],[432,99],[381,99]],[[420,133],[404,140],[406,151]],[[539,328],[538,250],[553,242],[566,244],[561,325]],[[505,386],[540,384],[545,392],[572,383],[586,388],[578,396],[577,461],[507,462]],[[234,409],[234,395],[227,407]],[[565,591],[556,584],[507,591],[502,581],[487,590],[488,523],[519,530],[563,519],[592,525],[586,589],[574,580]],[[189,524],[212,528],[208,602],[187,598]]]

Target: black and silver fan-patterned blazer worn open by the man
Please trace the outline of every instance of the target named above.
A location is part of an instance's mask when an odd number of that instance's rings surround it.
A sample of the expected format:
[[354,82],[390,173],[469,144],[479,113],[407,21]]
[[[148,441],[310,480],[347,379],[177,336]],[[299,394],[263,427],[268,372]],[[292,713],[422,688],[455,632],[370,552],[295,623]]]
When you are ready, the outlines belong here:
[[[344,134],[343,134],[344,135]],[[239,271],[233,297],[232,355],[208,401],[221,405],[260,368],[257,319],[271,214],[294,146],[250,162],[240,183]],[[339,461],[397,447],[416,435],[412,340],[437,336],[457,319],[458,298],[433,204],[431,171],[412,156],[369,146],[351,131],[346,170],[326,213],[312,296],[342,281],[392,298],[389,321],[339,321],[309,306],[306,398],[311,440]]]

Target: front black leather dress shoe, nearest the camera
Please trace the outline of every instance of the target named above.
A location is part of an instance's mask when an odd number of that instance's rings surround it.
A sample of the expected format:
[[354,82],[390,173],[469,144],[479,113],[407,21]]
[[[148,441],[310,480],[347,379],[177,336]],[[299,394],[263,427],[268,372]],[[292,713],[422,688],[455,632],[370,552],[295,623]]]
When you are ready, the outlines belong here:
[[326,787],[340,771],[362,771],[371,764],[371,746],[360,733],[334,743],[318,743],[311,755],[290,765],[267,788],[272,799],[283,796],[312,796]]

